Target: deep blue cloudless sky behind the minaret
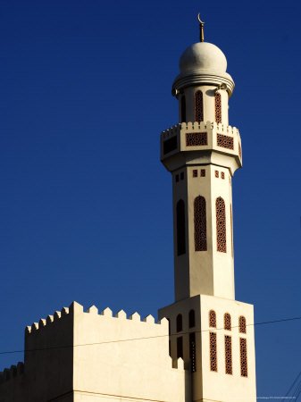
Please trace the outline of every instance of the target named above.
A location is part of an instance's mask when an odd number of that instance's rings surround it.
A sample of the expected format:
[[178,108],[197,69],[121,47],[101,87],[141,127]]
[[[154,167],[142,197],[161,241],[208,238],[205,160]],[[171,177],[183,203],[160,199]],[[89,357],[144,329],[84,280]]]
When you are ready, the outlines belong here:
[[[1,350],[72,300],[141,315],[173,301],[159,135],[177,123],[171,84],[198,12],[236,83],[237,299],[255,322],[301,315],[300,2],[1,0]],[[258,396],[284,396],[301,321],[255,337]]]

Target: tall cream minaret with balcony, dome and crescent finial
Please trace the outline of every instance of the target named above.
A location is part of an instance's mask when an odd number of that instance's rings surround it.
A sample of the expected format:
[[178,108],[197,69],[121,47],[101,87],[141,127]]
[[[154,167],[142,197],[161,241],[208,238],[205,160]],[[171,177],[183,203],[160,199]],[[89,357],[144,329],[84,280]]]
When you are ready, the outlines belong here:
[[179,123],[161,134],[172,175],[175,303],[159,317],[170,321],[171,357],[190,371],[189,400],[255,401],[253,306],[236,301],[234,289],[231,182],[242,165],[228,117],[234,82],[203,26],[172,86]]

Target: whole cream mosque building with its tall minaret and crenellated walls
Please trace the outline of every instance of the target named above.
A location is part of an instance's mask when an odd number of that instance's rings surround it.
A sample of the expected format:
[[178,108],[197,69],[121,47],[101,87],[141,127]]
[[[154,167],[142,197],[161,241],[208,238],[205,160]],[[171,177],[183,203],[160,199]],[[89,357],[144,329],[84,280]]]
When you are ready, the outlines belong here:
[[255,402],[253,306],[235,299],[228,121],[234,82],[217,46],[180,56],[179,123],[161,134],[171,172],[175,301],[141,320],[73,302],[25,330],[24,363],[0,373],[0,402]]

